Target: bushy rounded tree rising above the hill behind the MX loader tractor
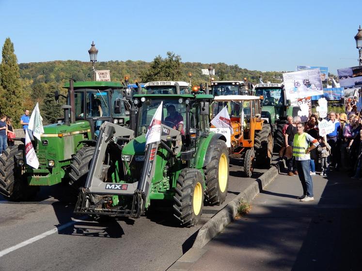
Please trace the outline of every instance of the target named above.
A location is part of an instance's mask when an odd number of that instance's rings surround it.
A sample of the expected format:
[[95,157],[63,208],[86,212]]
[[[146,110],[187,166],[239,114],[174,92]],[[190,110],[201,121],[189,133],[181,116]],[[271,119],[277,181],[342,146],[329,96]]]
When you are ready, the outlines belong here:
[[158,55],[151,63],[150,68],[141,72],[142,82],[178,81],[182,77],[181,57],[173,52],[167,52],[165,59]]

